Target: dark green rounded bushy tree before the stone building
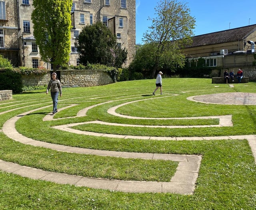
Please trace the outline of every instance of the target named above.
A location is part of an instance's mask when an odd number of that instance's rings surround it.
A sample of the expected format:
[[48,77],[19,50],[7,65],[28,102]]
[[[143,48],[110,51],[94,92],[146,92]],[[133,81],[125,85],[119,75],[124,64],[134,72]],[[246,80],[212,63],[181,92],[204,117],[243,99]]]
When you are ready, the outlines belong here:
[[118,48],[116,37],[102,22],[85,26],[75,46],[85,65],[99,63],[120,68],[127,58],[127,50]]

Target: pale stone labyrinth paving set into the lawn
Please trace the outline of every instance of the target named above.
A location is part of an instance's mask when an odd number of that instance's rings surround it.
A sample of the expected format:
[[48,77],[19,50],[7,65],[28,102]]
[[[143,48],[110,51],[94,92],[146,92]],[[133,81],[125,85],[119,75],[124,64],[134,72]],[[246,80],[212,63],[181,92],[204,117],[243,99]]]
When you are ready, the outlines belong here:
[[[212,94],[212,95],[205,95],[205,96],[193,96],[188,98],[189,100],[195,100],[205,103],[215,102],[216,100],[221,101],[222,103],[227,102],[227,100],[222,100],[222,97],[228,97],[232,96],[232,98],[238,99],[240,97],[240,100],[238,100],[242,104],[250,104],[255,102],[254,94],[247,94],[247,93],[240,93],[238,94]],[[172,97],[175,96],[163,96],[163,97]],[[256,97],[255,97],[256,98]],[[154,98],[148,98],[143,100],[153,100]],[[221,99],[221,100],[220,100]],[[232,100],[233,100],[232,99]],[[71,100],[71,99],[69,99]],[[116,109],[120,106],[124,106],[126,104],[138,102],[140,100],[135,100],[132,102],[126,102],[123,104],[120,104],[118,106],[113,106],[112,108],[108,109],[108,113],[123,117],[123,118],[134,118],[134,119],[159,119],[159,118],[136,118],[132,116],[124,116],[116,113]],[[77,114],[77,116],[74,117],[67,117],[67,118],[75,118],[75,117],[81,117],[86,116],[86,113],[88,110],[100,106],[102,104],[110,103],[112,101],[106,101],[102,102],[96,105],[88,106],[82,110],[80,110]],[[221,103],[220,102],[220,103]],[[238,103],[236,103],[238,104]],[[60,108],[58,111],[61,112],[62,110],[65,110],[66,108],[70,108],[72,106],[76,106],[77,104],[70,104],[69,106]],[[51,106],[51,105],[50,105]],[[195,183],[196,179],[198,177],[198,172],[200,168],[200,163],[202,157],[200,155],[177,155],[177,154],[150,154],[150,153],[136,153],[136,152],[116,152],[116,151],[103,151],[103,150],[91,150],[87,148],[74,148],[71,146],[63,146],[63,145],[56,145],[56,144],[50,144],[47,142],[41,142],[37,140],[33,140],[31,138],[27,138],[26,136],[23,136],[22,134],[18,133],[18,131],[15,128],[15,123],[17,120],[22,118],[23,116],[30,114],[32,112],[36,112],[38,110],[42,110],[45,108],[48,108],[50,106],[44,106],[41,108],[33,109],[28,112],[24,112],[22,114],[19,114],[17,116],[14,116],[7,120],[2,128],[2,132],[6,134],[9,138],[12,138],[15,141],[21,142],[23,144],[33,145],[33,146],[41,146],[45,148],[50,148],[53,150],[58,150],[62,152],[73,152],[73,153],[80,153],[80,154],[94,154],[98,156],[112,156],[112,157],[118,157],[118,158],[142,158],[142,159],[152,159],[152,160],[172,160],[172,161],[178,161],[178,168],[176,169],[176,173],[171,178],[170,182],[139,182],[139,181],[124,181],[124,180],[110,180],[110,179],[102,179],[102,178],[88,178],[88,177],[81,177],[76,175],[69,175],[69,174],[60,174],[55,172],[47,172],[43,170],[38,170],[35,168],[30,168],[27,166],[20,166],[18,164],[5,162],[3,160],[0,160],[0,169],[5,170],[7,172],[19,174],[20,176],[26,176],[34,179],[41,179],[41,180],[48,180],[53,181],[61,184],[74,184],[78,186],[88,186],[91,188],[101,188],[101,189],[108,189],[108,190],[116,190],[116,191],[122,191],[122,192],[172,192],[172,193],[178,193],[178,194],[193,194],[195,189]],[[14,109],[13,109],[14,110]],[[11,111],[11,110],[9,110]],[[8,112],[8,111],[6,111]],[[0,114],[6,113],[1,112]],[[211,126],[232,126],[232,116],[205,116],[205,117],[194,117],[191,119],[198,119],[198,118],[219,118],[220,123],[219,125],[210,125]],[[63,119],[63,118],[62,118]],[[165,119],[180,119],[180,118],[161,118],[162,120]],[[186,118],[189,119],[189,118]],[[56,120],[56,118],[53,117],[51,113],[46,114],[46,116],[43,118],[44,121],[48,120]],[[254,156],[256,156],[256,145],[255,145],[255,136],[249,135],[249,136],[215,136],[215,137],[182,137],[182,138],[173,138],[173,137],[154,137],[154,136],[124,136],[124,135],[113,135],[113,134],[103,134],[103,133],[96,133],[96,132],[83,132],[80,130],[72,129],[72,126],[78,125],[78,124],[85,124],[85,123],[99,123],[99,124],[106,124],[109,126],[139,126],[139,125],[126,125],[126,124],[112,124],[107,122],[101,122],[101,121],[93,121],[93,122],[80,122],[80,123],[74,123],[74,124],[65,124],[65,125],[59,125],[59,126],[53,126],[55,129],[64,130],[66,132],[74,132],[76,134],[81,135],[96,135],[96,136],[105,136],[110,138],[138,138],[138,139],[154,139],[154,140],[214,140],[214,139],[238,139],[238,138],[246,138],[248,139],[248,142],[252,148]],[[154,126],[154,127],[161,127],[161,126]],[[172,128],[172,126],[166,128]],[[176,126],[179,128],[183,128],[182,126]],[[173,126],[173,128],[176,128]],[[184,128],[188,128],[188,126],[184,126]],[[191,127],[191,126],[190,126]],[[196,126],[196,127],[205,127],[205,126]]]

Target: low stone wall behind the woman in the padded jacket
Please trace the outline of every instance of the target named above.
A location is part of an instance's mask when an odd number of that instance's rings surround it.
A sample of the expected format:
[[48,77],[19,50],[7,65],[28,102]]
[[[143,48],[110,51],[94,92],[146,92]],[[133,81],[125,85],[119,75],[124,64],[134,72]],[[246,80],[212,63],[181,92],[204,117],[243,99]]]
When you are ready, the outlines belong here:
[[[105,70],[60,70],[57,72],[62,87],[90,87],[113,83]],[[45,75],[23,75],[23,86],[44,86],[50,80],[50,73]]]

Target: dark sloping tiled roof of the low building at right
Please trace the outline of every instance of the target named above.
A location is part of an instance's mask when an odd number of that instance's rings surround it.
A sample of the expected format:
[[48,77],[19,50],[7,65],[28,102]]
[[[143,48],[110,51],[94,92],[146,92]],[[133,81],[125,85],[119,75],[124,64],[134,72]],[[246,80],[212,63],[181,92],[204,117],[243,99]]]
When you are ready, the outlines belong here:
[[193,43],[188,48],[243,40],[254,31],[256,31],[256,24],[194,36]]

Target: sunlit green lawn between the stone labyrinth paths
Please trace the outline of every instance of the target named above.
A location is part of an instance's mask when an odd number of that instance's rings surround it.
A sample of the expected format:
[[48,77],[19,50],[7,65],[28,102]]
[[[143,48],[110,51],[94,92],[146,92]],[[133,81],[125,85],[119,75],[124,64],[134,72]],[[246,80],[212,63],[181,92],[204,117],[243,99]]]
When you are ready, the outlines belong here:
[[[163,92],[152,96],[154,80],[118,82],[89,88],[63,88],[58,108],[77,104],[55,114],[57,120],[43,121],[52,111],[46,107],[23,116],[16,129],[35,140],[80,148],[162,154],[202,154],[193,195],[171,193],[124,193],[87,187],[55,184],[0,172],[0,209],[255,209],[256,165],[247,140],[161,141],[119,139],[71,134],[51,128],[55,125],[101,120],[138,125],[218,124],[218,120],[128,119],[108,114],[116,112],[136,117],[180,118],[232,115],[232,127],[221,128],[136,128],[86,124],[79,130],[134,136],[226,136],[255,134],[256,106],[203,104],[186,100],[189,96],[222,92],[256,93],[256,84],[211,84],[210,79],[163,78]],[[177,94],[177,95],[173,95]],[[78,118],[83,108],[96,106]],[[135,102],[136,101],[136,102]],[[0,129],[6,120],[36,108],[51,105],[44,90],[13,95],[0,101]],[[175,173],[177,162],[114,158],[58,152],[15,142],[0,132],[0,159],[43,170],[96,178],[166,182]],[[40,190],[38,190],[40,189]]]

